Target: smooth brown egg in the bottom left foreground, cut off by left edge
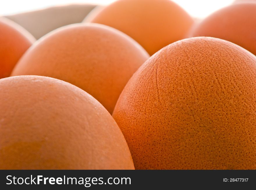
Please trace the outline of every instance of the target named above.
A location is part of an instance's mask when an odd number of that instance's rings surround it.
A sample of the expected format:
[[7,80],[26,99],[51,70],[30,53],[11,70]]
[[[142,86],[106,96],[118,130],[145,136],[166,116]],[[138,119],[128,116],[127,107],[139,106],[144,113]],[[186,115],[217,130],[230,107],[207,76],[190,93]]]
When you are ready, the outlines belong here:
[[118,125],[80,88],[15,76],[0,89],[0,169],[134,169]]

